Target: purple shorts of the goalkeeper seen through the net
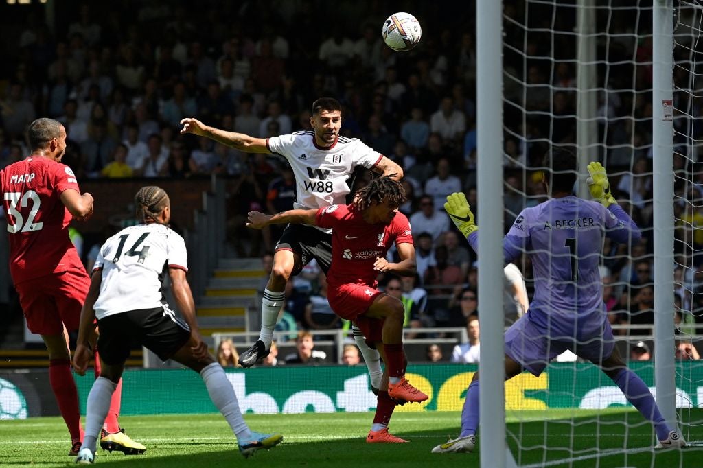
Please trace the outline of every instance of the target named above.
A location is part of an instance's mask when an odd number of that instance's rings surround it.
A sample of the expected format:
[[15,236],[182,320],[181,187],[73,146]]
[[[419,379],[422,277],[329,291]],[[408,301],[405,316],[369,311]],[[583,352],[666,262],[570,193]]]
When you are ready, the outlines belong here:
[[586,335],[581,334],[578,340],[560,335],[550,336],[548,328],[533,320],[528,312],[505,332],[505,354],[531,374],[539,376],[550,360],[567,349],[580,358],[598,364],[610,358],[615,345],[610,323],[605,316],[602,324]]

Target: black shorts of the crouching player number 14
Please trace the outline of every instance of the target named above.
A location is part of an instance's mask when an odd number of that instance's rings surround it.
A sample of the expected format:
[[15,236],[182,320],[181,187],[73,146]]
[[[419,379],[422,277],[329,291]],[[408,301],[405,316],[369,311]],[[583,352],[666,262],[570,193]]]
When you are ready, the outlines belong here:
[[191,337],[188,324],[167,305],[107,316],[98,320],[98,329],[98,351],[109,365],[124,363],[134,345],[167,360]]

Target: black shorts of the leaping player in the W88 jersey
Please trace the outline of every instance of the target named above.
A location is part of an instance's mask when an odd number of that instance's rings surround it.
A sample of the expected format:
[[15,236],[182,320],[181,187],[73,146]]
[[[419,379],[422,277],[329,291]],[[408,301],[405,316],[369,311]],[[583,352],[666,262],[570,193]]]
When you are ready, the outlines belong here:
[[283,234],[276,244],[276,250],[292,250],[302,259],[299,266],[292,275],[297,275],[302,271],[302,267],[309,264],[312,259],[317,260],[317,264],[322,271],[327,274],[332,263],[332,235],[323,231],[305,226],[304,224],[289,224],[285,226]]

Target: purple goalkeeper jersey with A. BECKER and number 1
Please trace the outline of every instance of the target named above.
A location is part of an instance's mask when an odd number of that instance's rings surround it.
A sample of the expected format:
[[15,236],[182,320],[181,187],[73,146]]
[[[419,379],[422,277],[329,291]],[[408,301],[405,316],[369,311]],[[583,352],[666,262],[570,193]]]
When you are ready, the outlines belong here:
[[[568,196],[522,210],[503,238],[505,261],[530,257],[534,298],[529,316],[553,338],[593,336],[602,329],[600,263],[603,236],[616,242],[640,239],[640,230],[617,204]],[[469,242],[477,249],[477,233]]]

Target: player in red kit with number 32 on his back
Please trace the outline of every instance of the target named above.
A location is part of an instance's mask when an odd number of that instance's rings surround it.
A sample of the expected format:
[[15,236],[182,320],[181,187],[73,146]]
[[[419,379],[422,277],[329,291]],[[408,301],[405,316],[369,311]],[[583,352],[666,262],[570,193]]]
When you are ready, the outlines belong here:
[[[41,335],[49,351],[49,383],[71,436],[68,455],[77,455],[83,429],[67,332],[78,328],[90,278],[69,238],[68,227],[72,219],[90,218],[93,197],[80,193],[75,174],[61,163],[66,129],[60,122],[44,117],[34,120],[27,128],[27,139],[30,156],[0,171],[10,272],[27,327]],[[95,359],[99,360],[97,348]],[[96,365],[96,377],[100,371]],[[101,446],[126,455],[143,453],[146,448],[120,428],[121,394],[122,381],[112,395]]]

